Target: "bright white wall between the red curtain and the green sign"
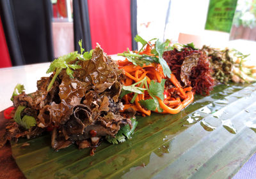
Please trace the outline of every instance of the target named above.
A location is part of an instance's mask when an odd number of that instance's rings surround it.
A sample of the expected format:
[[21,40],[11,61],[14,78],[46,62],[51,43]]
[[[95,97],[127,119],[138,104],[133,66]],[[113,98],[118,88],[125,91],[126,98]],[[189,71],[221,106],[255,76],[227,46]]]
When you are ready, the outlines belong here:
[[[179,34],[193,34],[199,38],[198,46],[219,46],[228,41],[226,32],[204,29],[209,0],[171,0],[170,13],[167,15],[169,0],[138,0],[138,34],[149,40],[159,38],[178,41]],[[168,16],[168,24],[164,31]],[[191,39],[193,41],[193,38]],[[189,40],[186,38],[186,40]]]

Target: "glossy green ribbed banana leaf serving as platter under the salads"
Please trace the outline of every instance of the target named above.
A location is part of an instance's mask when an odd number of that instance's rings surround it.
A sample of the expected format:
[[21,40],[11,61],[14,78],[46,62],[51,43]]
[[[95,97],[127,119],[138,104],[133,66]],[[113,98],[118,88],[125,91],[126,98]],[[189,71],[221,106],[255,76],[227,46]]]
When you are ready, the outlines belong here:
[[177,115],[137,120],[131,140],[94,156],[56,152],[49,135],[12,143],[12,155],[26,178],[232,178],[256,152],[256,83],[218,85]]

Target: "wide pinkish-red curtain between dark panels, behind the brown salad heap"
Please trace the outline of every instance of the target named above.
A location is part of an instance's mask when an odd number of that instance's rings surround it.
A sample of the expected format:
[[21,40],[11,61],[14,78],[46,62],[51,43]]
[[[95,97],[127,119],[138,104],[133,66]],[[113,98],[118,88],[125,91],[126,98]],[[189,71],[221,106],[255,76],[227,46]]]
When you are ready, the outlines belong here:
[[131,50],[130,5],[130,0],[88,0],[92,48],[99,43],[108,55]]

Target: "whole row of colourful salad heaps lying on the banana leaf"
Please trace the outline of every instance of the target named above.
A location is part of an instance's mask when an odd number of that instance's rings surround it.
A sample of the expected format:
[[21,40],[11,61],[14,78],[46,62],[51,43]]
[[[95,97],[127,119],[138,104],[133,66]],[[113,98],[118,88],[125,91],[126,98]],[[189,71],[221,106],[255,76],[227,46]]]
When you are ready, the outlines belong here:
[[79,41],[81,54],[72,52],[53,61],[47,70],[52,75],[38,80],[36,92],[26,94],[17,85],[0,146],[51,132],[55,150],[76,143],[79,148],[92,147],[93,154],[102,140],[118,143],[131,138],[135,115],[179,113],[196,93],[207,96],[214,85],[234,78],[255,81],[255,67],[244,66],[245,56],[235,50],[196,49],[193,43],[172,45],[140,36],[135,40],[141,49],[127,49],[118,54],[125,60],[117,62],[99,45],[84,52]]

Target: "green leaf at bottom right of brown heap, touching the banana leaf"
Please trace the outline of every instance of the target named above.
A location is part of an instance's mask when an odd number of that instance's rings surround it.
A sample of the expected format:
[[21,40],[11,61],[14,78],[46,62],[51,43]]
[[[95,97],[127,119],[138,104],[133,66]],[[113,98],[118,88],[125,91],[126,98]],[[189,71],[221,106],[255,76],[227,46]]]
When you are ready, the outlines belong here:
[[115,135],[115,138],[111,137],[111,136],[107,136],[106,139],[108,140],[109,143],[113,143],[113,144],[118,144],[118,142],[122,143],[125,140],[129,140],[131,139],[131,135],[133,134],[138,122],[136,121],[136,118],[131,118],[131,122],[132,122],[132,129],[130,128],[130,125],[124,125],[123,127],[121,127],[121,129],[117,132],[117,134]]

